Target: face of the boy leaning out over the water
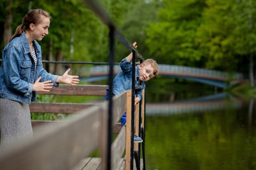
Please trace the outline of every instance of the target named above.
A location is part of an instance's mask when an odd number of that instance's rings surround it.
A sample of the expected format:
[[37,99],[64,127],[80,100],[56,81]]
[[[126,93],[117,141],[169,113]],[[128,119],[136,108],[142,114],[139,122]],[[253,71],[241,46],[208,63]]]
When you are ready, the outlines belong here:
[[139,80],[148,81],[154,77],[154,69],[151,64],[139,64]]

